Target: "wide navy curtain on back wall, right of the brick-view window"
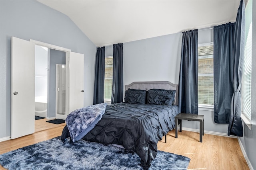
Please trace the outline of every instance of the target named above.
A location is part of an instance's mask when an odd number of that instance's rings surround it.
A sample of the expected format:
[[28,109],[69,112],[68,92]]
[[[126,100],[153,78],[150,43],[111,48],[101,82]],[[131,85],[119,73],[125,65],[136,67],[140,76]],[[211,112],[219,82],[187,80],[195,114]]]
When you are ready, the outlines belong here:
[[214,26],[214,122],[228,123],[233,95],[235,23]]

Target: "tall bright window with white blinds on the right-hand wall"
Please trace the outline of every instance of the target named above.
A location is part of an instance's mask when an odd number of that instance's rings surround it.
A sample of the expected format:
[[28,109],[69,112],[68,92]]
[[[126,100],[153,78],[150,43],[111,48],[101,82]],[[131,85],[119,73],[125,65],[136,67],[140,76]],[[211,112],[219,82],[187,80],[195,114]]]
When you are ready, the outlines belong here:
[[245,8],[246,39],[244,48],[244,70],[242,80],[242,113],[251,120],[251,82],[252,82],[252,0]]

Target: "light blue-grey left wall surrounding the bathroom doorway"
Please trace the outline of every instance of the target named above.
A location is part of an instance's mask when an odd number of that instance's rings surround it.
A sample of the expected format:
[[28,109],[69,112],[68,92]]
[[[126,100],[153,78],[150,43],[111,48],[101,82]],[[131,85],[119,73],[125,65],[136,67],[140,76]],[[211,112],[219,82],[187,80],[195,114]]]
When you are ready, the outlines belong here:
[[0,138],[11,128],[11,36],[84,54],[84,106],[93,103],[96,46],[68,18],[35,0],[0,0]]

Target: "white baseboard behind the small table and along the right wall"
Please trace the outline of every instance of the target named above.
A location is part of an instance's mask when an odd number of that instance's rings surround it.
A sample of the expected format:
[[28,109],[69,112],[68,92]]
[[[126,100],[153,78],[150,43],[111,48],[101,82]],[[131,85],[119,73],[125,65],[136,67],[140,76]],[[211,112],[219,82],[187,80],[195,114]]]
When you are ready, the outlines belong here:
[[[192,128],[188,128],[188,127],[182,127],[182,130],[184,130],[184,131],[191,131],[191,132],[198,132],[198,133],[200,132],[199,129],[192,129]],[[233,135],[228,136],[227,133],[220,133],[220,132],[213,132],[213,131],[204,131],[204,133],[205,133],[205,134],[210,134],[210,135],[223,136],[223,137],[237,138],[237,139],[238,139],[238,143],[239,143],[239,145],[240,145],[240,148],[241,148],[241,150],[242,150],[242,153],[244,154],[244,158],[245,158],[245,160],[246,160],[246,162],[247,162],[247,164],[248,164],[250,170],[254,170],[253,167],[252,167],[252,164],[251,164],[250,160],[249,160],[248,157],[247,157],[247,154],[246,154],[246,152],[245,152],[245,150],[244,150],[244,147],[243,147],[242,142],[241,142],[241,140],[240,140],[239,137],[236,137],[236,136],[233,136]]]

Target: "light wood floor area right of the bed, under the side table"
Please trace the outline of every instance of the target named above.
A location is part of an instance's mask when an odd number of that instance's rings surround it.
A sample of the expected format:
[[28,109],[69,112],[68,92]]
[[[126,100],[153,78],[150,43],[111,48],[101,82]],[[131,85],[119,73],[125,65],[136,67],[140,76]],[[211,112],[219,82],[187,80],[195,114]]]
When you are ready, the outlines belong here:
[[158,150],[180,154],[190,158],[188,170],[249,170],[238,139],[204,134],[199,142],[199,133],[170,131],[167,143],[158,142]]

